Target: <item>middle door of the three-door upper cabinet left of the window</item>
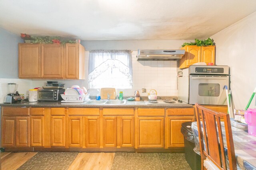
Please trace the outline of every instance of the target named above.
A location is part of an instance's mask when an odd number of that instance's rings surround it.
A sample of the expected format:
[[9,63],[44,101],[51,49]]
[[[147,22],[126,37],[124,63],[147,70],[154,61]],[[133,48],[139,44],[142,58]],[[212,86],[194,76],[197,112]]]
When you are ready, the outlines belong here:
[[41,78],[63,78],[63,46],[41,45]]

